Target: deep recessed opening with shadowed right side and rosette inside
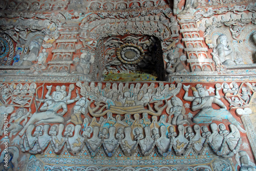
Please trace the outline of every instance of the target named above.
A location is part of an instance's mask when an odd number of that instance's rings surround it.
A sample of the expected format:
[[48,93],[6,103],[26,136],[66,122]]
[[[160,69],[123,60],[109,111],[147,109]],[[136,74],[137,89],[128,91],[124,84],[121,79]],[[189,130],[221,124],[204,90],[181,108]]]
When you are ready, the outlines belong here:
[[[154,36],[131,35],[102,40],[104,71],[102,81],[164,80],[161,43]],[[158,67],[161,65],[161,67]]]

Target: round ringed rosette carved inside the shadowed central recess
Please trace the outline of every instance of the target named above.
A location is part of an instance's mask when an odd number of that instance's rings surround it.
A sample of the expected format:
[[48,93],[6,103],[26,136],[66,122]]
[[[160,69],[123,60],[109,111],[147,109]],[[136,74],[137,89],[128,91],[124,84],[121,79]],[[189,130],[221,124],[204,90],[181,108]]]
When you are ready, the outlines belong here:
[[117,49],[116,56],[123,63],[136,64],[144,58],[145,54],[142,47],[127,43]]

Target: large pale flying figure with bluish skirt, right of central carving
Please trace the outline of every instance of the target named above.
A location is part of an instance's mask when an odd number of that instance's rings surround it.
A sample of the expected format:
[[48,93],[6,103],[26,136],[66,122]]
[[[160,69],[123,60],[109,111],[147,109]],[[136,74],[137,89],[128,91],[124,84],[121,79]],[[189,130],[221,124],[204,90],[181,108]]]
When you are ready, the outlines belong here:
[[[193,100],[191,110],[201,110],[194,116],[194,123],[211,123],[214,120],[222,121],[222,119],[227,119],[231,124],[235,125],[241,132],[246,132],[241,127],[241,124],[227,110],[227,107],[220,100],[220,97],[217,98],[216,96],[207,96],[206,90],[203,88],[201,84],[197,84],[196,88],[200,97],[196,97]],[[221,108],[213,109],[211,106],[213,103],[219,105]]]

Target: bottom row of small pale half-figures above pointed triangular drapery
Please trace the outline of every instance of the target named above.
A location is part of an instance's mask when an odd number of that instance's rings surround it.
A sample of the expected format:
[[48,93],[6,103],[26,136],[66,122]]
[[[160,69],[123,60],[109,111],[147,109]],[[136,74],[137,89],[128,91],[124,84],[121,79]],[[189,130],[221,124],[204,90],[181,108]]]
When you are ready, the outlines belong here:
[[[32,127],[34,128],[34,126]],[[200,131],[199,125],[194,125],[195,132],[192,127],[184,127],[182,125],[178,126],[178,132],[176,132],[174,126],[161,126],[153,129],[149,126],[143,129],[141,127],[116,128],[111,126],[109,128],[103,127],[101,130],[99,127],[87,126],[81,132],[80,125],[74,126],[72,124],[67,125],[65,131],[63,131],[64,126],[60,124],[53,125],[49,133],[49,125],[37,126],[32,134],[33,128],[29,129],[30,131],[27,132],[27,136],[25,135],[22,138],[22,151],[30,150],[32,153],[41,153],[51,143],[55,153],[59,153],[63,145],[67,143],[69,151],[76,153],[86,144],[91,155],[95,156],[101,145],[103,145],[104,150],[111,157],[119,145],[125,155],[135,153],[137,146],[140,145],[143,155],[147,156],[153,151],[156,145],[159,154],[166,156],[169,155],[172,147],[176,154],[188,151],[192,146],[195,151],[202,152],[202,149],[207,146],[203,145],[205,143],[212,143],[215,149],[219,149],[222,146],[224,138],[226,139],[225,142],[234,144],[238,143],[238,139],[240,138],[239,133],[236,132],[237,128],[235,129],[234,126],[230,126],[231,132],[229,132],[226,130],[224,124],[219,124],[219,126],[211,124],[212,133],[206,126],[202,126]],[[200,132],[202,133],[200,134]],[[37,147],[35,148],[34,146]],[[33,150],[37,150],[37,152]]]

